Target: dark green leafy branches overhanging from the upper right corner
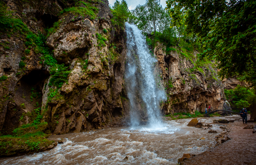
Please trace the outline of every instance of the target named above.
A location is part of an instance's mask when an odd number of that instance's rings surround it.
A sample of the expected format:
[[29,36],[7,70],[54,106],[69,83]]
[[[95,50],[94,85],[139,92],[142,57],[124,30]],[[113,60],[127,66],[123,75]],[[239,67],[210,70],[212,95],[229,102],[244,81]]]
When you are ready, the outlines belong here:
[[[253,0],[167,0],[174,25],[186,14],[186,30],[200,37],[201,57],[217,61],[219,74],[256,85],[256,2]],[[254,72],[255,73],[255,72]]]

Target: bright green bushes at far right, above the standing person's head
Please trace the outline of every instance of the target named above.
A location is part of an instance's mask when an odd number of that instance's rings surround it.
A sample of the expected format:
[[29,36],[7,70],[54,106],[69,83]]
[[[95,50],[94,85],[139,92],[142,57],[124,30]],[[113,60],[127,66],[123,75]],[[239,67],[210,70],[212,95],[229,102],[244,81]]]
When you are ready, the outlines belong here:
[[254,89],[248,89],[244,86],[237,86],[234,89],[225,89],[225,95],[231,106],[236,108],[248,108],[252,103],[256,101],[256,95]]

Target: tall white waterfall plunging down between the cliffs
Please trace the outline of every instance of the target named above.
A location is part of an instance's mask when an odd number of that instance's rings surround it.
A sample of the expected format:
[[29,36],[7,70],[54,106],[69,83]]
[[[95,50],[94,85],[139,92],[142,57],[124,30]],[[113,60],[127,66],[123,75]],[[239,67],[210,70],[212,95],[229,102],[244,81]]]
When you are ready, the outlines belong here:
[[155,82],[155,63],[157,59],[150,53],[146,37],[136,25],[125,23],[127,33],[127,61],[125,66],[125,86],[130,101],[131,126],[138,126],[140,112],[138,100],[143,100],[150,127],[161,127],[162,120],[159,103],[166,100],[164,90]]

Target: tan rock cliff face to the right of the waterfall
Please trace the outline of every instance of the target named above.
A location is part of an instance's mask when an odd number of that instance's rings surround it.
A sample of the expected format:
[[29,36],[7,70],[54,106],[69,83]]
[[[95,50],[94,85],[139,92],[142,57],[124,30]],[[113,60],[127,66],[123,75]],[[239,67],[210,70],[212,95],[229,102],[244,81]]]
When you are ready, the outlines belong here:
[[160,81],[166,87],[167,101],[162,113],[204,112],[223,109],[226,104],[224,86],[217,76],[217,69],[211,61],[203,59],[196,66],[197,51],[177,47],[166,53],[166,47],[157,43],[154,54],[158,59]]

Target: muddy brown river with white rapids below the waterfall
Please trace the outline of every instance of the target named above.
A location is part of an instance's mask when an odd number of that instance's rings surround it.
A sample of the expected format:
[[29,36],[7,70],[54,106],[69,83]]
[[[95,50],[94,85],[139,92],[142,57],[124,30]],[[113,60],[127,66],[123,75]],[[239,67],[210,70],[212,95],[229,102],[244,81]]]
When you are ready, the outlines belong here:
[[[231,120],[238,116],[202,117],[203,123],[220,118]],[[215,133],[186,126],[189,119],[167,121],[163,128],[112,127],[103,130],[50,136],[49,140],[66,139],[54,149],[29,155],[0,158],[0,164],[90,164],[90,165],[152,165],[176,164],[184,153],[198,154],[215,146]],[[213,130],[222,132],[218,124]],[[200,140],[204,137],[205,140]],[[125,157],[128,160],[124,160]]]

